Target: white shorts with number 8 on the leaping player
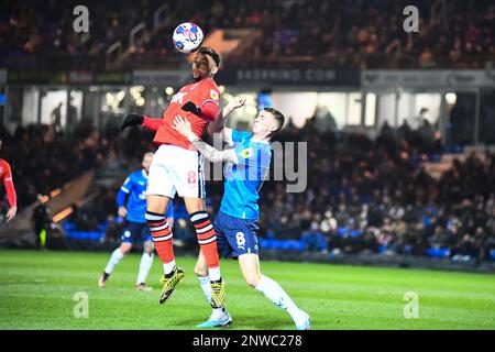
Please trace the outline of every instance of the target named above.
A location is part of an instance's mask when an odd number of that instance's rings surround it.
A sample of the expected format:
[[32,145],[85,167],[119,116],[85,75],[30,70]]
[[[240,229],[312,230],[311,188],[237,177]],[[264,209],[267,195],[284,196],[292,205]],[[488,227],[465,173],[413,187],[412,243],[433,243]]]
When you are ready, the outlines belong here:
[[153,156],[146,195],[202,198],[205,190],[204,156],[199,152],[162,144]]

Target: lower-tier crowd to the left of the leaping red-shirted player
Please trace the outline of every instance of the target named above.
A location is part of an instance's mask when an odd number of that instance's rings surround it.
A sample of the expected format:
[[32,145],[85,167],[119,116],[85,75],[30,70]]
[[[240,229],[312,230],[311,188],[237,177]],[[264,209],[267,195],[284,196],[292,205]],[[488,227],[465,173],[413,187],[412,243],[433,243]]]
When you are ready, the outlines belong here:
[[1,157],[12,165],[20,209],[89,169],[139,165],[136,152],[153,148],[151,136],[131,133],[128,140],[119,138],[118,127],[99,132],[86,122],[70,135],[45,124],[19,125],[13,133],[0,127],[0,139]]

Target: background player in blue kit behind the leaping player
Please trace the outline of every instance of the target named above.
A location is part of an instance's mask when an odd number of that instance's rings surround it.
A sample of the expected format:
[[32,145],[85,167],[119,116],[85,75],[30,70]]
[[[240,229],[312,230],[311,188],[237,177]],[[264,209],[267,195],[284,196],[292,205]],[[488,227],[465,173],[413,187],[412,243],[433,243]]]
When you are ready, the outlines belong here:
[[[131,251],[134,241],[143,241],[143,255],[141,256],[140,270],[135,288],[138,290],[151,290],[146,286],[146,277],[153,264],[153,242],[150,228],[144,218],[146,212],[146,184],[150,173],[150,164],[153,160],[153,153],[146,153],[143,156],[143,168],[129,175],[117,195],[117,205],[119,216],[125,218],[127,227],[121,238],[121,245],[113,251],[103,273],[98,280],[100,287],[107,285],[107,279],[116,268],[116,265]],[[125,206],[125,198],[128,198]],[[173,204],[167,209],[167,221],[174,223]]]

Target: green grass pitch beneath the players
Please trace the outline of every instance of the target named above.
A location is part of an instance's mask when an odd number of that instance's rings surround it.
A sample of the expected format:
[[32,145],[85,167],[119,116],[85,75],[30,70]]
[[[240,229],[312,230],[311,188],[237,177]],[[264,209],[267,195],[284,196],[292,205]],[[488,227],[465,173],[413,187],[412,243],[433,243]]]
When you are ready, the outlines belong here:
[[[158,305],[161,263],[152,292],[135,292],[139,254],[124,257],[101,289],[97,279],[110,253],[0,251],[0,329],[196,329],[210,308],[194,275],[194,257],[178,257],[186,277]],[[262,262],[312,329],[494,329],[495,275]],[[290,317],[245,285],[235,261],[222,261],[230,329],[294,329]],[[77,293],[88,297],[88,318],[74,316]],[[419,297],[419,317],[406,319],[407,292]]]

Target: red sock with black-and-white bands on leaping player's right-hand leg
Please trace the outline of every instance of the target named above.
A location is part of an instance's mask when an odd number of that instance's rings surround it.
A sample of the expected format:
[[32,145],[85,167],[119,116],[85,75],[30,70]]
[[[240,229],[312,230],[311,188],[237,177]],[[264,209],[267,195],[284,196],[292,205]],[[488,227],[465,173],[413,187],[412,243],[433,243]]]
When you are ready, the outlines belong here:
[[191,213],[190,221],[196,229],[198,243],[205,255],[208,268],[219,267],[217,235],[208,213],[204,210]]

